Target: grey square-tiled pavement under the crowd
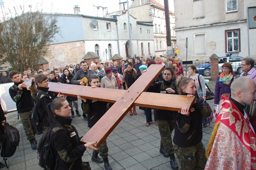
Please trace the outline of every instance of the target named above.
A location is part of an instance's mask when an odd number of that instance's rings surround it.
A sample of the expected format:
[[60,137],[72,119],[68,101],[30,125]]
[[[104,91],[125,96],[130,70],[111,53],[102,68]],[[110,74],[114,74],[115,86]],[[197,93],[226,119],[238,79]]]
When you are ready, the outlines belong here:
[[[214,91],[215,81],[208,83],[210,89]],[[79,101],[80,103],[80,101]],[[214,109],[213,100],[208,101]],[[79,110],[82,113],[82,110]],[[127,114],[118,126],[108,136],[109,163],[113,170],[169,170],[170,159],[163,157],[159,153],[160,133],[155,122],[151,122],[146,127],[146,117],[144,111],[136,107],[137,115]],[[153,113],[153,111],[152,111]],[[154,117],[154,115],[152,115]],[[20,131],[20,144],[13,157],[8,158],[9,170],[39,170],[36,151],[32,150],[20,120],[17,120],[17,112],[7,114],[7,121],[16,126]],[[214,121],[214,120],[213,120]],[[78,130],[80,136],[84,135],[89,128],[83,117],[75,116],[72,124]],[[210,126],[203,128],[202,142],[207,148],[213,131],[214,122]],[[39,141],[41,135],[36,135]],[[104,170],[104,163],[98,164],[91,161],[91,150],[86,150],[83,161],[89,161],[92,170]],[[176,159],[178,162],[178,159]],[[4,163],[4,161],[1,161]]]

